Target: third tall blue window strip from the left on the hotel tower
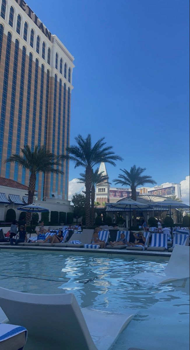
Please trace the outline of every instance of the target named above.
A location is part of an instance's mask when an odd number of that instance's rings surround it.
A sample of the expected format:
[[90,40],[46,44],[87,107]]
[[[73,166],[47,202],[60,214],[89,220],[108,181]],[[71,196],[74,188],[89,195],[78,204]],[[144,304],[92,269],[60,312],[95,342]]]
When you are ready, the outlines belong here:
[[[13,141],[13,125],[14,125],[14,111],[15,111],[15,95],[16,95],[16,80],[17,80],[17,66],[19,57],[19,41],[15,40],[14,49],[14,63],[13,63],[13,79],[12,79],[12,92],[10,100],[10,117],[9,117],[9,133],[7,144],[7,158],[12,154],[12,141]],[[5,177],[9,179],[10,175],[10,163],[6,164]]]

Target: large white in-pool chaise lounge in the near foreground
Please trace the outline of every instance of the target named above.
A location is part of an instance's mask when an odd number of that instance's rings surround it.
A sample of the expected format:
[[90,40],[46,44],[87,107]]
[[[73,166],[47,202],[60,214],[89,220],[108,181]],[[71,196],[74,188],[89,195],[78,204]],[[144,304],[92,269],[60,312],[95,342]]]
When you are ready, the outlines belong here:
[[0,287],[0,307],[28,330],[35,350],[108,350],[133,318],[80,309],[74,294],[29,294]]

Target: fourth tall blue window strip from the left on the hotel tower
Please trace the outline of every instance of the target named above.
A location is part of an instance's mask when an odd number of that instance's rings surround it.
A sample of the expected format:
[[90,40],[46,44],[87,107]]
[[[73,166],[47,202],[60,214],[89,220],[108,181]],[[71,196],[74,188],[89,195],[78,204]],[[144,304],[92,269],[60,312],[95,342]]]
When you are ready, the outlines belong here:
[[[16,152],[15,152],[16,154],[20,153],[25,63],[26,63],[26,48],[23,46],[23,48],[22,48],[21,73],[20,73],[19,113],[18,113],[17,135],[16,135]],[[17,181],[17,179],[18,179],[18,171],[19,171],[19,166],[18,166],[17,163],[15,163],[14,169],[15,169],[15,171],[14,171],[14,180]]]

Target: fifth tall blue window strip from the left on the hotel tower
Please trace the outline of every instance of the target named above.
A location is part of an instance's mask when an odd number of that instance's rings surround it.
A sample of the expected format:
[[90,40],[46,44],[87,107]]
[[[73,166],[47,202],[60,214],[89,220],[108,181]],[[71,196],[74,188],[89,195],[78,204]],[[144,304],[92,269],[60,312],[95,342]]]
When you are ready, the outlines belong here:
[[[28,85],[27,85],[27,99],[26,99],[26,120],[25,120],[25,132],[24,132],[24,145],[28,144],[32,63],[33,63],[33,55],[30,52],[29,53],[29,64],[28,64]],[[26,176],[26,169],[22,169],[22,180],[21,180],[22,184],[25,183],[25,176]]]

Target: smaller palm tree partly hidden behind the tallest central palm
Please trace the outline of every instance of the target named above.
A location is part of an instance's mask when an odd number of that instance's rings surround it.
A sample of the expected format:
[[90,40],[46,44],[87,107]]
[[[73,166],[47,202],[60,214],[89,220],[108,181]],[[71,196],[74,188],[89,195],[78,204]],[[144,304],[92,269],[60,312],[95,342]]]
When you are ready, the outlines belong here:
[[[103,182],[107,182],[107,175],[102,175],[104,172],[99,173],[97,168],[95,171],[92,169],[92,187],[91,187],[91,210],[90,210],[90,224],[94,224],[94,201],[95,201],[95,187]],[[86,176],[84,173],[79,174],[81,177],[78,179],[79,183],[86,183]]]

